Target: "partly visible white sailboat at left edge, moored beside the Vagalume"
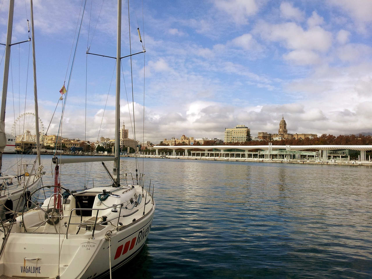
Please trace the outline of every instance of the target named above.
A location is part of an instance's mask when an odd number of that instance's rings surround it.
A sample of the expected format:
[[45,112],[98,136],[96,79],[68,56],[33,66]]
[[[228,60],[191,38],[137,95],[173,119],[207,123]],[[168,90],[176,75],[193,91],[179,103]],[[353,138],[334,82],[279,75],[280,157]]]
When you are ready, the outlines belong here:
[[[4,220],[9,218],[12,213],[22,210],[23,206],[31,206],[31,201],[27,201],[29,194],[35,190],[41,183],[41,177],[44,174],[42,171],[43,166],[40,163],[39,166],[28,164],[20,164],[18,166],[17,174],[3,174],[1,173],[2,157],[3,153],[9,151],[9,147],[12,148],[10,151],[15,149],[14,137],[5,133],[5,107],[6,97],[8,89],[8,77],[9,77],[9,64],[10,64],[10,47],[12,45],[12,27],[13,27],[13,11],[14,11],[14,0],[10,1],[9,7],[9,20],[7,30],[7,41],[5,45],[5,60],[4,60],[4,80],[3,80],[3,93],[1,99],[1,114],[0,114],[0,219]],[[33,35],[33,32],[32,32]],[[35,100],[37,100],[36,93],[36,76],[35,76],[35,51],[33,45],[33,66],[34,66],[34,91]],[[35,113],[37,115],[37,102],[35,101]],[[36,137],[38,138],[38,125],[36,125]],[[10,136],[10,137],[9,137]],[[39,145],[38,145],[39,148]],[[34,197],[34,202],[36,200]]]

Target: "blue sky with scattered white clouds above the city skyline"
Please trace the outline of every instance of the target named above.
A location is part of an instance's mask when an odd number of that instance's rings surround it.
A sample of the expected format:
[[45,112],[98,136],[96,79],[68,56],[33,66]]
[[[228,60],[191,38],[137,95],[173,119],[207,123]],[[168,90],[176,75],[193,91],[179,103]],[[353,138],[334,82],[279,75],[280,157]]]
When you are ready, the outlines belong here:
[[[116,56],[113,2],[87,2],[68,88],[64,137],[114,137],[115,60],[85,54],[90,45],[90,52]],[[8,6],[1,2],[2,43]],[[67,73],[80,6],[80,1],[34,0],[39,115],[45,129]],[[289,133],[372,132],[372,1],[153,0],[144,1],[143,20],[141,1],[129,6],[132,52],[142,50],[138,26],[147,51],[145,60],[144,55],[132,59],[137,140],[157,144],[183,134],[223,139],[225,128],[241,124],[255,137],[278,132],[282,115]],[[127,7],[124,2],[122,55],[129,54]],[[24,1],[16,0],[12,42],[27,39],[27,12]],[[0,51],[2,57],[3,46]],[[28,43],[12,49],[7,131],[18,115],[32,112],[32,72],[27,90],[24,81],[28,51]],[[129,60],[122,64],[132,108]],[[1,74],[3,67],[2,58]],[[30,98],[26,109],[25,92]],[[133,137],[124,82],[121,104],[121,121]],[[57,133],[60,114],[61,105],[48,134]]]

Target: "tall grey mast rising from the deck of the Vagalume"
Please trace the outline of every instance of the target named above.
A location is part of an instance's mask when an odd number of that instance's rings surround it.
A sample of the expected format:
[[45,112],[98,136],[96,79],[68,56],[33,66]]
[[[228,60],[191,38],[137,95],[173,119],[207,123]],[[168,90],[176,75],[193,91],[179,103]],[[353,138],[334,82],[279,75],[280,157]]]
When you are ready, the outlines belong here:
[[[121,0],[118,0],[118,41],[116,48],[116,105],[115,105],[115,161],[114,186],[120,186],[120,60],[121,60]],[[116,173],[116,175],[115,175]]]

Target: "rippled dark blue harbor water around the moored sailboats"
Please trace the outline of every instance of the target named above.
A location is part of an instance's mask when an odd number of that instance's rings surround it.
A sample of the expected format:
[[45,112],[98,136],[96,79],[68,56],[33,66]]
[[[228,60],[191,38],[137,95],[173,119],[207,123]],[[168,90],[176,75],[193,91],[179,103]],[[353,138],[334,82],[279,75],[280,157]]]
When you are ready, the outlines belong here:
[[[4,155],[3,171],[19,156]],[[53,185],[51,156],[42,163]],[[155,186],[155,217],[147,246],[112,278],[372,278],[372,167],[139,163]],[[121,158],[122,173],[135,169]],[[100,162],[62,165],[61,174],[70,190],[109,185]]]

